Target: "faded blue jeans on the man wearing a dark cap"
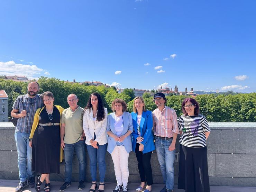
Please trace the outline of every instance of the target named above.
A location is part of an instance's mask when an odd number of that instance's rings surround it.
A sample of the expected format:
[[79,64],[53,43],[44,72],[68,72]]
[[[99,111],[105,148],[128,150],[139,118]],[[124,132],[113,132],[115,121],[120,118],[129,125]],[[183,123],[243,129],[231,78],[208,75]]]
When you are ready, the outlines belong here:
[[156,153],[160,164],[161,173],[167,189],[174,189],[174,158],[175,150],[169,151],[168,148],[172,143],[170,140],[155,139]]

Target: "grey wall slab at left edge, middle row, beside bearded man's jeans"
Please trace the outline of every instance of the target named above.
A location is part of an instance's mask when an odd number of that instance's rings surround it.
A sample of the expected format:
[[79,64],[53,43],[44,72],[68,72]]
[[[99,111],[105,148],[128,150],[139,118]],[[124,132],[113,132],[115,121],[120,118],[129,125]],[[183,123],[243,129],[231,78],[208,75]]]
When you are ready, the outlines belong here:
[[0,171],[19,172],[17,151],[0,151]]

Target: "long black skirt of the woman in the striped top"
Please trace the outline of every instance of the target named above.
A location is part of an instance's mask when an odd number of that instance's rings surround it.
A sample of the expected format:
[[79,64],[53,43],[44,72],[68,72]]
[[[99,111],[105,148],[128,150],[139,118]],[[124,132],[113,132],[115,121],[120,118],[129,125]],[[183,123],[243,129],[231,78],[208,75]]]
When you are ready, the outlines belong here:
[[210,192],[207,147],[180,145],[178,189],[186,192]]

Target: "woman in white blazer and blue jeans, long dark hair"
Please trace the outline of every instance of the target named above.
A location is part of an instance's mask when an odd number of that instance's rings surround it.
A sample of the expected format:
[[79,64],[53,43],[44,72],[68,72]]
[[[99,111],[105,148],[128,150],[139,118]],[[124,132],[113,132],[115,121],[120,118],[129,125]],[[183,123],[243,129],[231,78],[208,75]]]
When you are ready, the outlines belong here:
[[98,192],[104,191],[104,178],[106,173],[105,155],[107,151],[107,116],[108,111],[103,107],[99,93],[92,93],[84,108],[83,129],[85,133],[85,144],[90,158],[90,170],[92,186],[89,192],[95,192],[97,188],[97,162],[100,172],[100,185]]

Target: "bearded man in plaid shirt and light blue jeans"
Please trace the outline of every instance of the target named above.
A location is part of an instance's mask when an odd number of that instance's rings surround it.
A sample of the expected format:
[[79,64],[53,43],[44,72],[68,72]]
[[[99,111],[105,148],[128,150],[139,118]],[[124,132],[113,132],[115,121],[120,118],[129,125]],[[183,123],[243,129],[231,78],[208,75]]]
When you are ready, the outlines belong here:
[[39,84],[36,81],[28,84],[28,93],[20,95],[13,103],[11,116],[18,118],[15,129],[15,141],[18,152],[18,167],[20,183],[15,192],[22,191],[28,185],[35,186],[35,177],[31,170],[32,149],[28,146],[30,131],[36,110],[44,106],[42,97],[37,94]]

